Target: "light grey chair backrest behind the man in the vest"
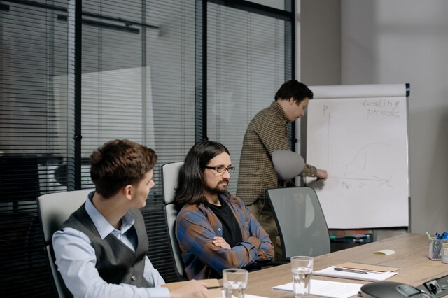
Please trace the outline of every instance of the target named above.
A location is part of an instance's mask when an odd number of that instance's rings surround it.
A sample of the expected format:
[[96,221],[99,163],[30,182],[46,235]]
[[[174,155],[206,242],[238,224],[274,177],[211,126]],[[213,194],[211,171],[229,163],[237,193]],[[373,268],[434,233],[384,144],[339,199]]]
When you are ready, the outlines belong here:
[[44,250],[50,264],[50,271],[59,297],[72,297],[66,290],[64,281],[57,271],[55,257],[52,253],[52,235],[56,232],[71,213],[76,211],[92,190],[76,190],[73,192],[57,192],[43,194],[37,199],[38,213],[41,218]]

